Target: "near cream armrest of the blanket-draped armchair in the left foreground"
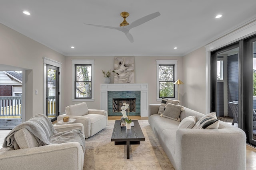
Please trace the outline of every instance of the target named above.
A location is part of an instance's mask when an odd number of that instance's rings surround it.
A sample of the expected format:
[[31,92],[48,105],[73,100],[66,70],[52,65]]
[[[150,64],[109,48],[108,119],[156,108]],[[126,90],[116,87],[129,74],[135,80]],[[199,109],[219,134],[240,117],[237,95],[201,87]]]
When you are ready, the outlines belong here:
[[0,151],[0,169],[82,170],[84,152],[77,142],[45,145],[28,149]]

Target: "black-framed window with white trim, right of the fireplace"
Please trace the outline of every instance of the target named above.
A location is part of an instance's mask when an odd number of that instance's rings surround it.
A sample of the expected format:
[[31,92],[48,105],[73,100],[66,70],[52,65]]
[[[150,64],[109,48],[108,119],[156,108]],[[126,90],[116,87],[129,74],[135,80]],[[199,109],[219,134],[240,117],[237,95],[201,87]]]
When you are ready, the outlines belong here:
[[177,60],[157,60],[157,100],[175,98]]

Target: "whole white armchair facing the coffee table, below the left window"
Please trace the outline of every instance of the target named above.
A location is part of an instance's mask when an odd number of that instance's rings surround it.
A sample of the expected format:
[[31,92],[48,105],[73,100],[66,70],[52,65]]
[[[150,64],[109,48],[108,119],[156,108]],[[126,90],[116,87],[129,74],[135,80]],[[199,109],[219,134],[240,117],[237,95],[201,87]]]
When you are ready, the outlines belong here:
[[95,135],[108,124],[107,111],[88,109],[85,102],[67,106],[65,112],[66,114],[59,115],[57,120],[60,121],[66,116],[76,119],[75,123],[82,123],[84,125],[85,138]]

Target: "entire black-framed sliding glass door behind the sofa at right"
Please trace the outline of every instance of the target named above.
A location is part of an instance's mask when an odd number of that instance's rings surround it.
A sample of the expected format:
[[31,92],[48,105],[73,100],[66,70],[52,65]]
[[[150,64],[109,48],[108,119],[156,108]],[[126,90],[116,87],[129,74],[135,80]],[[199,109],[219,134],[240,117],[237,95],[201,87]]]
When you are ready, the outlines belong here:
[[256,35],[212,51],[210,62],[210,111],[232,117],[256,146]]

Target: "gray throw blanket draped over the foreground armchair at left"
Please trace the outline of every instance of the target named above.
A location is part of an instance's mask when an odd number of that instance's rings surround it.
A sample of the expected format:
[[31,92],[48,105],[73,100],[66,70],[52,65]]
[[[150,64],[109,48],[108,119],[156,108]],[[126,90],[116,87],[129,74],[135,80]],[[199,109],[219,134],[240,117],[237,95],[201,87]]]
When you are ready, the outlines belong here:
[[85,137],[80,129],[72,129],[58,132],[54,129],[52,122],[46,115],[38,114],[16,126],[5,137],[3,148],[13,148],[15,139],[14,133],[22,128],[27,129],[37,140],[38,147],[51,144],[78,142],[85,150]]

